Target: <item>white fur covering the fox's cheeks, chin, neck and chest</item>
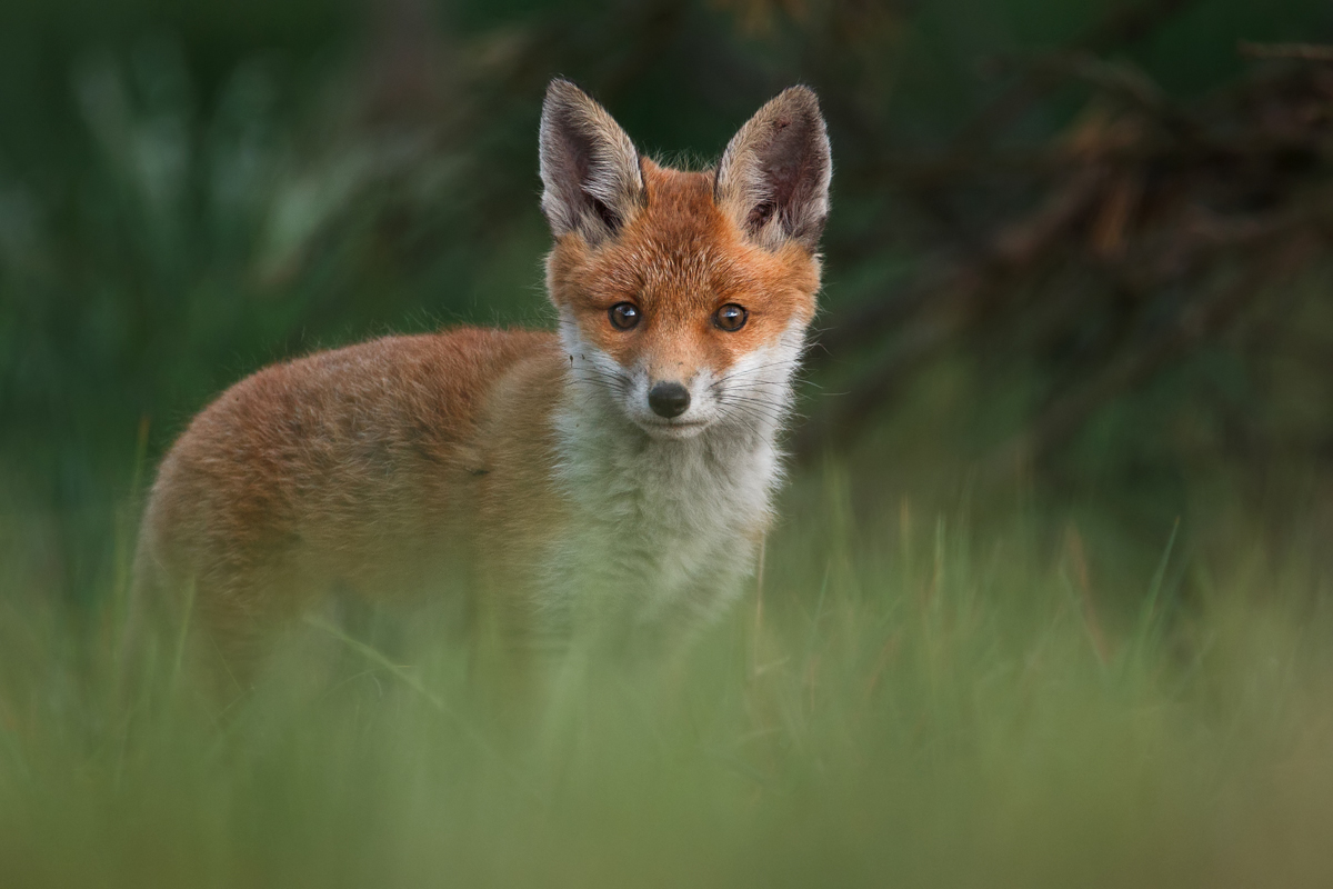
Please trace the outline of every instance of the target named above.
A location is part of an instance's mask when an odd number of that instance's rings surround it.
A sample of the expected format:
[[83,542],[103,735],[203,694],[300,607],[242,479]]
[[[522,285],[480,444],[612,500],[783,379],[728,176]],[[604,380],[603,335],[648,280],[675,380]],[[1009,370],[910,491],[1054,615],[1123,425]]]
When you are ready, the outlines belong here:
[[802,329],[729,373],[700,373],[690,388],[712,421],[693,437],[659,437],[631,416],[647,399],[643,369],[616,365],[561,327],[571,361],[555,416],[556,482],[572,514],[537,606],[557,622],[706,622],[756,568]]

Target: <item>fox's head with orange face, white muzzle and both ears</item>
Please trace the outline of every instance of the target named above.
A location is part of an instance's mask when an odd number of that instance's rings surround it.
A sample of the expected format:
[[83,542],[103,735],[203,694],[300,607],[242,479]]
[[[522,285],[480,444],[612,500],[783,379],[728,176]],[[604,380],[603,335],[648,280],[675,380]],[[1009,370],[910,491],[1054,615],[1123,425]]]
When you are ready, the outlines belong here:
[[644,433],[772,432],[814,316],[832,161],[818,100],[760,108],[708,172],[643,157],[565,80],[541,116],[547,287],[581,397]]

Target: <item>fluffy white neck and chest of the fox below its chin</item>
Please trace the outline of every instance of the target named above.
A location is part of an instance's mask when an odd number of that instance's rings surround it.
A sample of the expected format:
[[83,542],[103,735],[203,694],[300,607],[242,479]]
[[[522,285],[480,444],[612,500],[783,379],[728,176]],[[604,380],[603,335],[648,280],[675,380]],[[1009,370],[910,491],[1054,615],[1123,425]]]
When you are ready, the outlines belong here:
[[575,521],[559,561],[573,560],[577,576],[600,577],[608,590],[629,590],[637,621],[720,613],[753,572],[769,524],[800,348],[796,333],[782,344],[785,363],[762,356],[774,369],[762,412],[718,417],[689,439],[643,431],[585,364],[587,349],[567,349],[556,482]]

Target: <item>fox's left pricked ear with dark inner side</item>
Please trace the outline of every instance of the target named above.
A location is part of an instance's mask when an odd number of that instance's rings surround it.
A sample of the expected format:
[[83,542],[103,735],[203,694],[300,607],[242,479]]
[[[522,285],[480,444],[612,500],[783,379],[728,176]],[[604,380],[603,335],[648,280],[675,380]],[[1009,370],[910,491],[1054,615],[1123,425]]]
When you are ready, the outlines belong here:
[[552,80],[541,109],[541,211],[556,237],[613,236],[643,205],[639,152],[607,109],[568,80]]

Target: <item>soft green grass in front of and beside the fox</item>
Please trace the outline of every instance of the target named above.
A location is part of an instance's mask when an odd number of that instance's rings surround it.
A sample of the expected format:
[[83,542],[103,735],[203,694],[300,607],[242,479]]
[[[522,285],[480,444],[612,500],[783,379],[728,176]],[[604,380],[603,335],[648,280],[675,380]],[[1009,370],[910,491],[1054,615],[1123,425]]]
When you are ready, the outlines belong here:
[[798,473],[761,594],[686,656],[521,705],[433,629],[320,624],[223,714],[169,656],[121,706],[121,576],[0,598],[4,885],[1328,885],[1312,566],[1168,530],[1114,589],[1030,502],[862,516],[852,477]]

